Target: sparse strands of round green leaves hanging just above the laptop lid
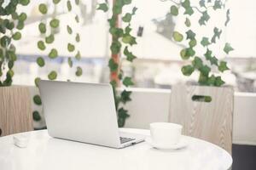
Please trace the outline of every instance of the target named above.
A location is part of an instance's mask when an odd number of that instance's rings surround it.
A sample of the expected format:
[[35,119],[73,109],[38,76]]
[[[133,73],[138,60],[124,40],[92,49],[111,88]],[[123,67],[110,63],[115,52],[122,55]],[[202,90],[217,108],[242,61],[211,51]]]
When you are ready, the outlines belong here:
[[[40,51],[46,51],[48,50],[48,58],[50,60],[57,59],[59,56],[59,50],[57,48],[48,48],[50,44],[53,44],[55,42],[55,36],[59,33],[60,31],[60,24],[61,20],[58,19],[58,14],[57,14],[57,6],[58,4],[61,3],[66,3],[67,7],[67,13],[65,14],[73,14],[75,22],[79,25],[79,14],[76,13],[76,6],[79,7],[80,1],[75,0],[71,2],[70,0],[52,0],[51,4],[46,4],[46,3],[40,3],[38,5],[38,10],[42,14],[42,20],[38,24],[38,31],[40,32],[41,39],[37,42],[38,49]],[[49,14],[49,5],[54,6],[54,10],[51,14]],[[49,19],[47,16],[51,16]],[[67,22],[68,23],[68,22]],[[81,54],[79,49],[76,48],[76,44],[80,42],[80,34],[79,32],[74,32],[73,27],[67,24],[66,27],[66,33],[70,37],[70,42],[67,43],[67,51],[70,53],[70,56],[73,57],[68,57],[67,58],[67,64],[69,67],[73,67],[73,59],[79,60],[81,59]],[[75,42],[75,43],[73,43]],[[65,43],[65,42],[64,42]],[[39,67],[44,67],[46,65],[45,59],[42,56],[38,56],[37,59],[37,64]],[[83,70],[80,66],[76,67],[75,75],[77,77],[82,76]],[[58,74],[57,71],[49,71],[48,74],[48,79],[49,80],[55,80],[57,79]],[[35,84],[38,87],[38,81],[40,80],[40,77],[35,78]],[[67,80],[69,81],[69,80]],[[33,101],[36,105],[42,105],[40,96],[37,94],[33,97]],[[33,119],[34,121],[40,121],[41,116],[38,111],[33,111]]]

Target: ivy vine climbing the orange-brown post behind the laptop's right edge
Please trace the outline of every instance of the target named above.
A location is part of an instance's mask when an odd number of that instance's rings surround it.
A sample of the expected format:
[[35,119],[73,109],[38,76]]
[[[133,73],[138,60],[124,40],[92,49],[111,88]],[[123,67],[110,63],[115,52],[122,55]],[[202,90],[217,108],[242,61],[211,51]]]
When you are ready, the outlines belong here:
[[[130,5],[131,0],[115,0],[113,1],[112,16],[108,20],[109,32],[112,35],[112,43],[110,46],[112,57],[108,61],[108,67],[111,73],[111,85],[113,86],[113,94],[115,99],[115,106],[118,116],[119,127],[125,126],[125,120],[130,115],[125,109],[125,104],[131,101],[131,91],[123,90],[120,94],[117,93],[117,88],[122,83],[126,88],[134,85],[131,77],[124,77],[124,73],[120,65],[120,53],[125,55],[125,59],[132,62],[137,57],[132,54],[129,49],[131,46],[137,44],[136,37],[131,35],[131,19],[135,15],[137,8],[132,8],[130,13],[122,15],[123,8],[125,5]],[[107,12],[109,4],[99,3],[98,10]],[[122,15],[122,16],[121,16]],[[125,27],[119,26],[119,17],[125,24]]]

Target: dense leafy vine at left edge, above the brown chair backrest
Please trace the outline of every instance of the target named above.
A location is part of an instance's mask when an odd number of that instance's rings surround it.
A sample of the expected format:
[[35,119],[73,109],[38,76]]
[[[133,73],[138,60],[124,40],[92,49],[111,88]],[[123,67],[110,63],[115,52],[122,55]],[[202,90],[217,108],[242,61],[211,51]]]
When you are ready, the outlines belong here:
[[21,32],[26,21],[26,13],[17,13],[19,5],[26,6],[29,0],[10,0],[4,4],[0,0],[0,87],[10,86],[15,72],[13,67],[17,59],[15,44],[21,38]]

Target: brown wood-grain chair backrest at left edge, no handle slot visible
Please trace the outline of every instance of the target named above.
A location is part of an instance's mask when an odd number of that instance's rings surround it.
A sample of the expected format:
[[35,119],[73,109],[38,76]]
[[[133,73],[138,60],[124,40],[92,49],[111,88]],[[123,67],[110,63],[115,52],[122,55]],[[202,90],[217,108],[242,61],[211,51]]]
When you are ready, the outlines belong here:
[[0,136],[32,131],[32,99],[28,87],[0,88]]

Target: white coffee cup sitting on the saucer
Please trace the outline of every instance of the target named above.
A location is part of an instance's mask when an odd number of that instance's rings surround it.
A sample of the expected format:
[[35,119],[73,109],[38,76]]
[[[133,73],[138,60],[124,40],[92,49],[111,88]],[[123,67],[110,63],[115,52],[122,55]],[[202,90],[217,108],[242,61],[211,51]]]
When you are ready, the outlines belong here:
[[150,124],[152,142],[156,145],[168,147],[177,144],[181,139],[182,126],[169,122],[154,122]]

